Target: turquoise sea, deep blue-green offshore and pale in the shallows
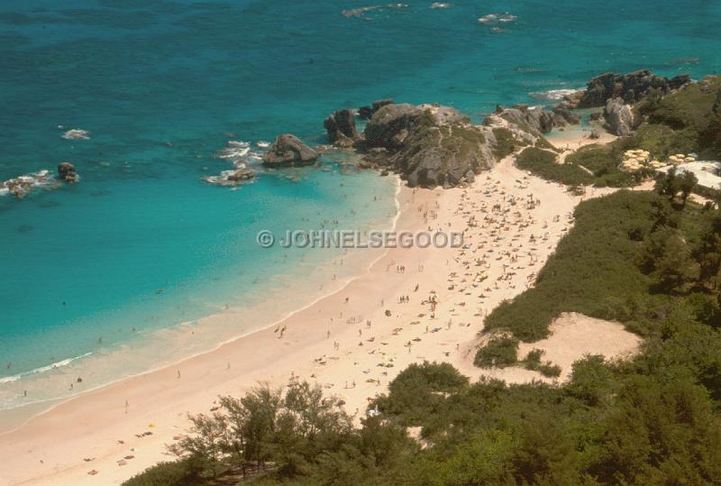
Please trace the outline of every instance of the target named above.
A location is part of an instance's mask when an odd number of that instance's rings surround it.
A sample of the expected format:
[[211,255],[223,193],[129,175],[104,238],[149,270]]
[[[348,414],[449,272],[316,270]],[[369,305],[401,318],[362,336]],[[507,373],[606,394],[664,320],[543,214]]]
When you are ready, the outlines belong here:
[[[240,190],[203,183],[230,168],[217,156],[230,141],[254,152],[277,133],[324,142],[325,115],[381,97],[480,119],[605,70],[698,78],[721,66],[712,1],[408,1],[342,14],[373,5],[0,4],[0,179],[60,160],[82,178],[22,201],[0,196],[0,408],[203,351],[316,297],[319,269],[340,255],[261,250],[260,229],[390,225],[394,185],[342,175],[339,154],[324,156],[330,171],[297,171],[299,182],[277,172]],[[478,22],[506,12],[513,22]],[[71,128],[90,139],[63,139]],[[223,312],[238,313],[233,328],[205,332],[199,319]],[[187,344],[178,332],[185,344],[160,353],[152,343],[179,323],[204,338]],[[83,385],[66,390],[80,373]]]

